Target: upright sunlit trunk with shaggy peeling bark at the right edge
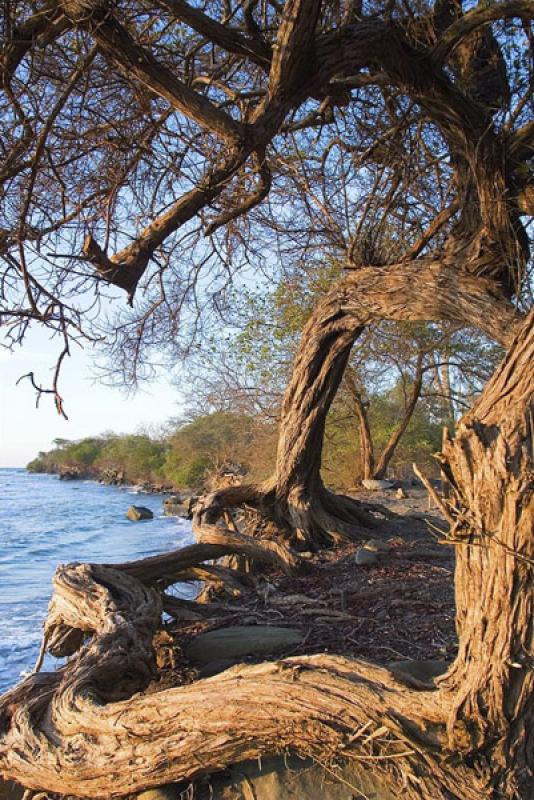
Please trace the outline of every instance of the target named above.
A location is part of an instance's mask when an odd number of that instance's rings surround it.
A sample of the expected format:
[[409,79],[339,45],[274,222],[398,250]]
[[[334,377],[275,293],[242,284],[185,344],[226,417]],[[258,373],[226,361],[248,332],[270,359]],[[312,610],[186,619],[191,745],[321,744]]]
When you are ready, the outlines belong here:
[[514,349],[446,442],[457,542],[458,658],[451,743],[491,751],[496,790],[531,797],[534,750],[534,330]]

